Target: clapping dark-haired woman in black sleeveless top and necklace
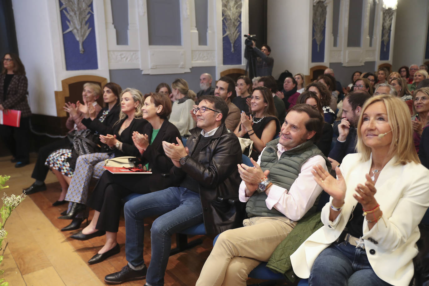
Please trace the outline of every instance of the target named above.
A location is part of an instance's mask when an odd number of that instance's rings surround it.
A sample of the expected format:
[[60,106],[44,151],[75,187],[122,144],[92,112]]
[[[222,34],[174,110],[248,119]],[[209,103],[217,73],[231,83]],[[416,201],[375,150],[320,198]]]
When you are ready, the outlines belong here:
[[[251,158],[258,159],[266,143],[275,138],[280,131],[280,123],[275,117],[274,100],[267,87],[256,87],[251,97],[250,118],[242,111],[241,120],[234,133],[253,141]],[[247,156],[248,153],[245,152]]]

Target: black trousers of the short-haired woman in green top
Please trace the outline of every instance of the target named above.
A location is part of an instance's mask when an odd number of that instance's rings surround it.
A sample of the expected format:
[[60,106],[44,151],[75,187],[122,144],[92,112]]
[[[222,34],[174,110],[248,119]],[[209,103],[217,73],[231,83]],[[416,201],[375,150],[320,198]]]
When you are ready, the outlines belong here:
[[161,174],[112,174],[105,171],[87,204],[100,212],[96,229],[118,232],[122,199],[131,193],[147,194],[172,187],[170,178]]

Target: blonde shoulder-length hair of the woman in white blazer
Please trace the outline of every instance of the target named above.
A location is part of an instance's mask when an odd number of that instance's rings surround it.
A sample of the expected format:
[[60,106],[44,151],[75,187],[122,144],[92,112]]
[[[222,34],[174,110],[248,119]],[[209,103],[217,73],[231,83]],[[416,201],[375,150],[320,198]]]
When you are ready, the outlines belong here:
[[387,110],[387,119],[392,129],[392,142],[390,142],[389,155],[396,157],[394,165],[405,165],[408,162],[420,163],[414,147],[413,128],[410,120],[410,110],[404,101],[395,96],[381,94],[372,96],[366,100],[362,107],[362,112],[357,123],[357,144],[356,150],[360,153],[360,160],[369,160],[371,148],[363,143],[361,134],[362,117],[366,108],[375,102],[383,102]]

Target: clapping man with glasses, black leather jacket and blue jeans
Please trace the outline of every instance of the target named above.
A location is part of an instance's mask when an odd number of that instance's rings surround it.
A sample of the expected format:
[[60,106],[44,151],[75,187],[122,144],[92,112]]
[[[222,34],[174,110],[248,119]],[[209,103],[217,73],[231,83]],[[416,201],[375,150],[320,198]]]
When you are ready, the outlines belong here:
[[[107,283],[144,279],[147,272],[148,285],[163,285],[173,233],[202,222],[206,233],[241,225],[244,213],[227,202],[238,196],[241,179],[237,164],[242,162],[239,140],[224,124],[228,106],[221,97],[202,96],[194,113],[197,127],[190,130],[186,148],[179,138],[178,144],[163,142],[166,155],[175,165],[170,175],[177,178],[178,187],[145,194],[125,204],[128,264],[107,275]],[[160,217],[152,224],[152,256],[146,268],[143,220],[154,215]]]

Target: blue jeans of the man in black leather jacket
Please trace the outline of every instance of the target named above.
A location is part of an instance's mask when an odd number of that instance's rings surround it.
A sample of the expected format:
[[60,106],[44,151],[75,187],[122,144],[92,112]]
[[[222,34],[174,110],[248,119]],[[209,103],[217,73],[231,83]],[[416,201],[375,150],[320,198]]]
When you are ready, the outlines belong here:
[[159,215],[151,227],[151,263],[146,282],[152,286],[164,284],[164,272],[171,249],[171,235],[202,223],[199,194],[184,187],[170,187],[128,201],[124,206],[125,253],[133,266],[145,263],[143,239],[145,217]]

